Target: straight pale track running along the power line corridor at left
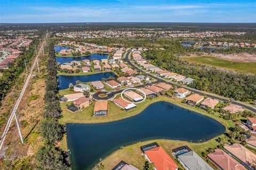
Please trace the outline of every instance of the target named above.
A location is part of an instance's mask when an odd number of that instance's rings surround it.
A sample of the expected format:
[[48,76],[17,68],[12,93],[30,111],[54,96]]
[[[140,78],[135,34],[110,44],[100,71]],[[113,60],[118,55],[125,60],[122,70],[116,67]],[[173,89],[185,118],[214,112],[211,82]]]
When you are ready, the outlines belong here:
[[34,61],[32,67],[31,67],[31,69],[30,69],[29,75],[28,75],[28,77],[27,77],[27,79],[26,79],[26,82],[25,82],[23,88],[22,88],[22,91],[21,91],[21,93],[20,93],[20,95],[19,95],[19,98],[18,98],[17,102],[16,102],[15,105],[14,105],[14,108],[13,108],[13,110],[12,110],[12,114],[11,114],[11,116],[9,117],[9,120],[7,121],[7,124],[6,124],[6,126],[5,126],[4,132],[3,132],[2,137],[1,137],[1,140],[0,140],[0,151],[1,151],[2,147],[3,147],[5,137],[6,137],[7,133],[9,132],[10,126],[11,126],[11,124],[12,124],[12,120],[13,120],[13,118],[14,118],[14,116],[15,116],[15,111],[17,110],[17,108],[18,108],[18,106],[19,106],[19,104],[20,104],[20,101],[21,101],[21,99],[22,99],[22,96],[23,96],[23,94],[25,93],[25,90],[26,90],[27,85],[28,85],[28,83],[29,83],[29,79],[30,79],[30,77],[31,77],[31,75],[32,75],[32,73],[33,73],[33,70],[34,70],[35,66],[36,66],[36,61],[37,61],[37,59],[38,59],[39,54],[42,53],[42,50],[43,50],[43,44],[41,45],[40,50],[39,50],[39,52],[38,52],[37,55],[36,55],[35,61]]

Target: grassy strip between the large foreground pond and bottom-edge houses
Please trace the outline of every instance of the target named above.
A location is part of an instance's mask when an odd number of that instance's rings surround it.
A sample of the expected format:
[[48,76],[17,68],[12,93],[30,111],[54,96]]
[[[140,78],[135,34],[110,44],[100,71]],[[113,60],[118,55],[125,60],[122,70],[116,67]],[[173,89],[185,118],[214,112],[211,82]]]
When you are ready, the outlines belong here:
[[[148,143],[152,143],[152,142],[157,142],[173,159],[174,157],[172,156],[172,149],[181,147],[182,145],[187,145],[190,149],[194,150],[199,156],[201,156],[202,152],[204,152],[206,149],[214,148],[214,147],[217,147],[218,145],[218,142],[215,141],[215,138],[206,142],[201,142],[201,143],[191,143],[186,141],[174,141],[174,140],[152,140],[152,141],[139,142],[139,143],[135,143],[135,144],[123,147],[122,149],[117,150],[116,152],[109,155],[106,159],[102,161],[102,164],[104,165],[104,169],[113,168],[121,160],[139,169],[143,169],[143,165],[146,159],[141,155],[142,152],[140,150],[140,146]],[[176,159],[174,160],[178,164],[178,161]]]

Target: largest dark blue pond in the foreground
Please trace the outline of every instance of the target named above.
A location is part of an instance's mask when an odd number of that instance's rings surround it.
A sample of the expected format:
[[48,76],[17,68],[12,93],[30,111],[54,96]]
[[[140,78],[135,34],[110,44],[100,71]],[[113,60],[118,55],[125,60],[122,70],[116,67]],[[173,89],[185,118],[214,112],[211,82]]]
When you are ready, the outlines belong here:
[[[125,114],[125,113],[124,113]],[[73,169],[91,169],[121,146],[152,139],[199,142],[225,132],[217,120],[168,102],[156,102],[140,114],[110,123],[67,124]]]

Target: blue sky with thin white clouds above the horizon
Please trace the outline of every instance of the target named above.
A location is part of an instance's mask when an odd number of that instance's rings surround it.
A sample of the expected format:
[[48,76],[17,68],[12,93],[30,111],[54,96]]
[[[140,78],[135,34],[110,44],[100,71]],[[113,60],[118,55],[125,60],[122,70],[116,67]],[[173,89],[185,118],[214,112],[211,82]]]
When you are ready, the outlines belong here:
[[256,0],[1,0],[1,23],[256,22]]

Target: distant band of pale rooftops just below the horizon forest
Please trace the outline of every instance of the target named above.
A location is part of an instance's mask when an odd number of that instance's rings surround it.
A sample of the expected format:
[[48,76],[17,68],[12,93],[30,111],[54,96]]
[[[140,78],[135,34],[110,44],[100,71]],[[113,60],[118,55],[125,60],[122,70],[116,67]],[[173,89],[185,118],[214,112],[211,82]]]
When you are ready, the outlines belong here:
[[77,31],[67,33],[56,33],[58,37],[68,38],[118,38],[118,37],[158,37],[158,38],[204,38],[204,37],[216,37],[223,35],[243,35],[243,32],[231,32],[231,31],[200,31],[200,32],[189,32],[189,31],[168,31],[168,30],[97,30],[97,31]]

